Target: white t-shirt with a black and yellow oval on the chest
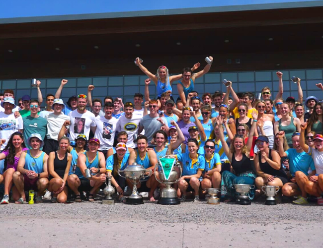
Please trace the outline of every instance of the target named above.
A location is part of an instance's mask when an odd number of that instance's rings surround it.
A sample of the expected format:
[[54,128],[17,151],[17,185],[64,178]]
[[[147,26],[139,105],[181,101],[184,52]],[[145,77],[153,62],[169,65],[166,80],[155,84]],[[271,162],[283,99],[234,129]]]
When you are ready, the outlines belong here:
[[128,133],[128,142],[127,147],[135,148],[136,144],[134,143],[134,134],[137,133],[139,128],[139,123],[142,117],[140,115],[132,114],[131,119],[127,119],[126,116],[119,118],[117,124],[117,131],[126,131]]

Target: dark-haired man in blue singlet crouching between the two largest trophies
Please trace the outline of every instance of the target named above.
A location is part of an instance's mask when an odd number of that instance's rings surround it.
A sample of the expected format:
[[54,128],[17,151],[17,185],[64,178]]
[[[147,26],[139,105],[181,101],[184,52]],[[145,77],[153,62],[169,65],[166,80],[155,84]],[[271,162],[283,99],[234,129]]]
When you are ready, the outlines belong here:
[[[154,172],[155,166],[158,162],[156,153],[153,150],[147,150],[148,138],[145,135],[140,135],[137,138],[138,150],[133,150],[129,156],[129,165],[136,162],[142,165],[146,170],[152,170]],[[148,179],[142,179],[137,185],[139,192],[149,192],[148,198],[150,201],[155,201],[154,191],[158,187],[158,182],[154,176],[154,173]],[[131,184],[128,184],[128,186]]]

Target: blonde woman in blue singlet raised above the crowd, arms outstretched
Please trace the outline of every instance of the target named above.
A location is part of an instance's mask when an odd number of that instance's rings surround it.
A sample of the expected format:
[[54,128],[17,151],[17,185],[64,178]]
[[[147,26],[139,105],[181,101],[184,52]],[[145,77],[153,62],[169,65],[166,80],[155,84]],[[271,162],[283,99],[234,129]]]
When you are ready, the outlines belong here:
[[[157,95],[158,95],[157,99],[160,99],[161,94],[166,92],[167,90],[172,91],[171,84],[174,81],[179,80],[180,78],[183,77],[182,74],[169,76],[168,69],[164,65],[161,65],[160,67],[158,67],[157,73],[156,75],[154,75],[144,65],[142,65],[139,58],[136,58],[136,65],[138,65],[138,67],[155,83],[157,87],[156,89]],[[196,63],[194,64],[192,69],[197,69],[199,66],[200,66],[200,63]],[[171,100],[174,101],[171,95],[170,95],[170,98]]]

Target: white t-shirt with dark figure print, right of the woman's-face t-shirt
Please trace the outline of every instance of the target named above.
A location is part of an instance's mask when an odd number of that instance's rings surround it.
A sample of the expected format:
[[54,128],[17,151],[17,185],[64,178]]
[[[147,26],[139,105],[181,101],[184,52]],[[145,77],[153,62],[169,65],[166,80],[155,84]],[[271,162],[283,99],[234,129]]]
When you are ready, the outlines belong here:
[[96,124],[94,137],[100,140],[99,150],[109,150],[113,147],[118,119],[114,117],[106,119],[104,116],[97,116],[94,122]]

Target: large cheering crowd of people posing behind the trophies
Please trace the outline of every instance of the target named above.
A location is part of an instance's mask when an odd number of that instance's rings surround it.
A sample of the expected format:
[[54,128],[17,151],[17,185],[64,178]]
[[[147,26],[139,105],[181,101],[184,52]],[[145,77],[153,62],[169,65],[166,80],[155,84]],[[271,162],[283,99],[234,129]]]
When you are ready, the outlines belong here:
[[[148,78],[144,95],[134,94],[133,102],[110,96],[102,102],[92,96],[94,86],[89,85],[87,94],[64,103],[60,96],[68,80],[62,79],[41,111],[40,81],[38,98],[25,95],[19,106],[13,90],[5,90],[0,104],[1,204],[22,204],[29,190],[37,192],[36,203],[45,197],[53,203],[94,201],[110,176],[118,200],[124,202],[132,184],[118,170],[136,162],[154,172],[158,161],[170,155],[182,168],[173,185],[181,201],[192,197],[199,202],[208,188],[220,188],[224,202],[235,201],[233,186],[247,184],[254,185],[248,193],[251,200],[263,193],[262,186],[278,186],[277,198],[292,197],[302,205],[311,197],[323,205],[323,103],[314,96],[303,102],[300,78],[297,101],[283,98],[279,71],[274,99],[269,87],[259,99],[251,92],[236,93],[229,80],[224,82],[226,92],[197,92],[195,79],[210,70],[213,58],[206,61],[196,73],[200,63],[170,76],[166,66],[153,74],[137,58]],[[157,99],[150,97],[151,81]],[[322,83],[316,86],[323,91]],[[152,173],[137,187],[155,201],[162,185]]]

